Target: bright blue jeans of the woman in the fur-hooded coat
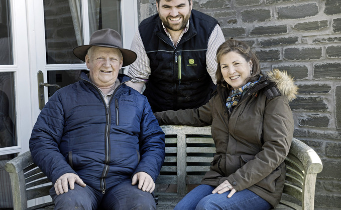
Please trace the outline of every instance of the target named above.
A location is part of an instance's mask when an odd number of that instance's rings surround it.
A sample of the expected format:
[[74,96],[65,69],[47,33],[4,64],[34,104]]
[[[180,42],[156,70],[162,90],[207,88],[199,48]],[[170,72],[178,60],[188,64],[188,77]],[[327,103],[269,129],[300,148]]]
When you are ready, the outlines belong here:
[[186,194],[174,210],[270,209],[272,207],[269,202],[248,189],[238,191],[228,198],[230,191],[212,194],[214,188],[210,185],[200,184]]

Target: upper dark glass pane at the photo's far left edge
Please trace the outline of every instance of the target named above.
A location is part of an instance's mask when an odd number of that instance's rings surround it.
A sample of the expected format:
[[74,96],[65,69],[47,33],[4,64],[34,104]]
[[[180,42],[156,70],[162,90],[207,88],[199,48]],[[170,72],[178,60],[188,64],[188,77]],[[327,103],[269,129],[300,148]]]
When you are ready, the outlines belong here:
[[12,65],[12,35],[9,0],[0,0],[0,65]]

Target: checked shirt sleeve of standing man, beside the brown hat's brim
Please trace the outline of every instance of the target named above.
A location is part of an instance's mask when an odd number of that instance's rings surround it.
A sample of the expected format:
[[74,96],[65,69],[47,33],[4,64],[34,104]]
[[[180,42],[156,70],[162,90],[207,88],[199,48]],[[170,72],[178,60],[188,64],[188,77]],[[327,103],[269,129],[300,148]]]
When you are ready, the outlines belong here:
[[150,61],[139,31],[136,32],[130,49],[137,54],[137,58],[129,66],[128,76],[132,78],[134,83],[147,82],[151,74]]

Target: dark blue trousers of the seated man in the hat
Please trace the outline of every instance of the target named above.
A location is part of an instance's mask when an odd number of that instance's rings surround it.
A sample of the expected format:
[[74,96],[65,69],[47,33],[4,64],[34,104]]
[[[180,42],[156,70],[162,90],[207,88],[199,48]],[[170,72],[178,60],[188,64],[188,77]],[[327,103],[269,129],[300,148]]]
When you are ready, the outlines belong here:
[[106,189],[105,194],[75,183],[74,189],[59,195],[53,186],[50,195],[55,202],[54,209],[156,209],[154,196],[139,189],[137,184],[132,185],[131,180]]

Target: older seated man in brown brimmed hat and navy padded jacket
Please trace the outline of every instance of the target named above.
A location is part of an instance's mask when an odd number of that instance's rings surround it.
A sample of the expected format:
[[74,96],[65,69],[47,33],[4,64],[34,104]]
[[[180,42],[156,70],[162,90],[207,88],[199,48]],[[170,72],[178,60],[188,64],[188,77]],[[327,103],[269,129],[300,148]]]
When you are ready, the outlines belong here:
[[136,59],[114,30],[73,49],[88,76],[59,89],[32,130],[34,162],[54,183],[56,209],[155,209],[164,133],[147,98],[120,75]]

